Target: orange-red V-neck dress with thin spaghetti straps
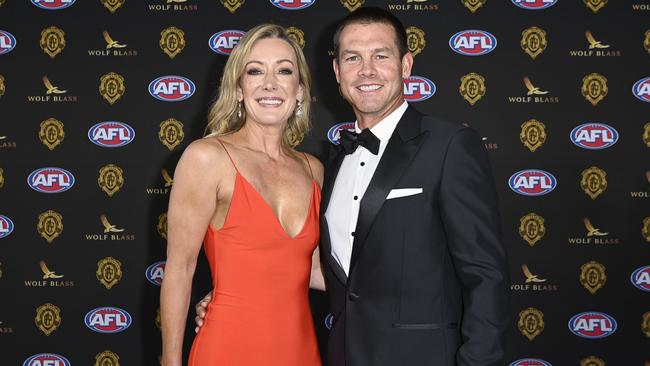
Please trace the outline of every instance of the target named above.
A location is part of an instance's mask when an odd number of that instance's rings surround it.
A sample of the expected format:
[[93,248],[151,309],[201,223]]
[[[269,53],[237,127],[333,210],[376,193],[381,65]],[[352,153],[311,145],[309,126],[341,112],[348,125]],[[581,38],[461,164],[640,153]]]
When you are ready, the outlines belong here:
[[302,230],[290,237],[233,166],[235,186],[226,220],[219,230],[210,225],[203,242],[212,300],[188,365],[320,366],[308,299],[311,257],[319,238],[318,184],[312,176],[309,213]]

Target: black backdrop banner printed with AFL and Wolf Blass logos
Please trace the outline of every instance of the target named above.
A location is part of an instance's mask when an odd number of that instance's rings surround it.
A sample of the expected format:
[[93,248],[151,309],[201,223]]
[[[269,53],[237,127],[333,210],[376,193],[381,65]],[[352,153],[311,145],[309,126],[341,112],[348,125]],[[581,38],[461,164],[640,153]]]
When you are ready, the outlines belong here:
[[[315,79],[299,148],[322,158],[354,121],[331,35],[363,5],[407,27],[406,98],[489,150],[504,365],[649,365],[647,0],[0,0],[0,364],[157,364],[174,168],[228,55],[289,27]],[[210,286],[201,255],[192,302]]]

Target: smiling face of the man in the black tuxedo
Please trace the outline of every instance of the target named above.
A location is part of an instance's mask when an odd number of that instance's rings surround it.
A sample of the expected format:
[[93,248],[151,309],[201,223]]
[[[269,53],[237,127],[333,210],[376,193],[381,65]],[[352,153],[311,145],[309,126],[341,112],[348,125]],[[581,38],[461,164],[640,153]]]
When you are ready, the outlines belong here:
[[404,78],[413,56],[400,57],[395,30],[387,24],[350,24],[339,37],[334,73],[358,119],[379,121],[402,104]]

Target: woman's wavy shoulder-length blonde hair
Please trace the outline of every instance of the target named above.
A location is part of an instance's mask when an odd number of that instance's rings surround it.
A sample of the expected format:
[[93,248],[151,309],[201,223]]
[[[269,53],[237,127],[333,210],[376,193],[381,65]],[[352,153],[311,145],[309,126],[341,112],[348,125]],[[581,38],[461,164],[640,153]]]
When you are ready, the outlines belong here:
[[282,136],[282,141],[289,147],[298,145],[310,129],[311,109],[311,76],[305,55],[300,46],[289,36],[287,30],[275,24],[260,24],[249,30],[233,49],[226,66],[223,68],[219,97],[210,107],[208,125],[205,128],[206,136],[221,136],[238,131],[246,121],[246,111],[241,109],[241,117],[237,116],[237,87],[244,74],[246,59],[251,53],[255,42],[265,38],[277,38],[287,42],[296,55],[298,61],[298,83],[303,89],[302,114],[293,113],[289,117]]

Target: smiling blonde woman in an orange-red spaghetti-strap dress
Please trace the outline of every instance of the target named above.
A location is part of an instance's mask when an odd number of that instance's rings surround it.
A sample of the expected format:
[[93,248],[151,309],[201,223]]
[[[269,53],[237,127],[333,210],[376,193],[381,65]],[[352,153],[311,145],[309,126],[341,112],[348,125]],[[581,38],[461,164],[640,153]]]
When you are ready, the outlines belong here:
[[203,242],[213,295],[190,366],[320,365],[308,286],[323,167],[293,148],[309,128],[310,76],[284,28],[251,29],[230,55],[207,135],[174,174],[161,289],[163,366],[182,365],[192,277]]

